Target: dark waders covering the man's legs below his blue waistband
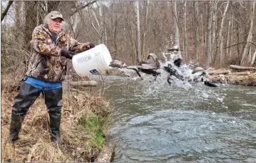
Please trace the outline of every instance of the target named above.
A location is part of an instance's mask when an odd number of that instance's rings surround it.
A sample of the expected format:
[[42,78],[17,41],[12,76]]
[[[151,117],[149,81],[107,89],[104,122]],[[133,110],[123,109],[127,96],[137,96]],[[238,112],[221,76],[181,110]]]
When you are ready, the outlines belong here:
[[59,126],[62,116],[62,87],[56,89],[44,90],[38,89],[28,83],[21,83],[18,95],[14,99],[11,113],[11,124],[9,141],[14,143],[18,140],[18,133],[21,131],[21,125],[30,106],[39,97],[40,92],[44,93],[45,104],[50,117],[50,133],[54,142],[60,143]]

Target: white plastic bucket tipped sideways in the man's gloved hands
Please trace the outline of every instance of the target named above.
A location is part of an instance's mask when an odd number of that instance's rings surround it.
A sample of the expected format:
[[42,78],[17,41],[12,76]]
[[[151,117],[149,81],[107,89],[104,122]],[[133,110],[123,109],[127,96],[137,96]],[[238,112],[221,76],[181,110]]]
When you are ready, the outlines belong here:
[[105,44],[98,44],[93,49],[73,56],[72,64],[78,76],[105,73],[112,58]]

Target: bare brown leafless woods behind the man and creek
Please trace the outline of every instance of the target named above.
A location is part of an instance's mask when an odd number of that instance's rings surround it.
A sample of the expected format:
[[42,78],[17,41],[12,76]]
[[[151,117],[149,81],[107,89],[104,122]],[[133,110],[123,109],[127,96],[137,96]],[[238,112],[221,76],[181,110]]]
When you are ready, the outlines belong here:
[[106,44],[112,59],[127,65],[149,53],[163,59],[178,44],[186,63],[255,66],[255,1],[1,1],[4,79],[23,78],[33,29],[54,10],[63,14],[71,37]]

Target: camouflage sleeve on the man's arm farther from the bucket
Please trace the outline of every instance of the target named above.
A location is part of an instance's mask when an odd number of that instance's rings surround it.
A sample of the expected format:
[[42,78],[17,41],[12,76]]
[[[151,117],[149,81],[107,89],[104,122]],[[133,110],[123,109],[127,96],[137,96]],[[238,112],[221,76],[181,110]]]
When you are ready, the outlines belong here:
[[54,44],[47,44],[47,36],[40,30],[33,31],[33,38],[31,44],[35,51],[46,56],[60,56],[59,47]]

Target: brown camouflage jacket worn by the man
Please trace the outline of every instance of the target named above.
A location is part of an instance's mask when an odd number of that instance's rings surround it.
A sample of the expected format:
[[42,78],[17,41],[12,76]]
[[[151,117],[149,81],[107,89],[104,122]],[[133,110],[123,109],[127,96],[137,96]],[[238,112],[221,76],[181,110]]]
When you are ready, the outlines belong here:
[[61,49],[83,52],[85,51],[83,47],[88,44],[79,43],[61,31],[57,37],[57,45],[55,45],[51,32],[45,25],[34,29],[30,43],[32,56],[25,75],[51,82],[62,82],[65,79],[66,58],[61,56]]

